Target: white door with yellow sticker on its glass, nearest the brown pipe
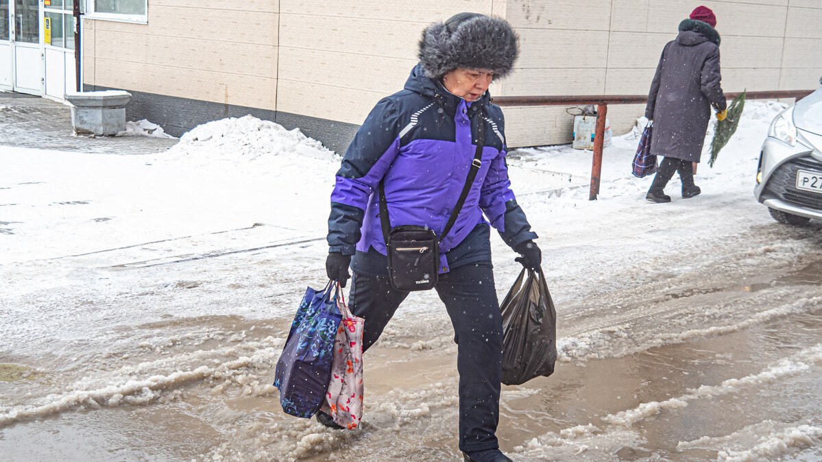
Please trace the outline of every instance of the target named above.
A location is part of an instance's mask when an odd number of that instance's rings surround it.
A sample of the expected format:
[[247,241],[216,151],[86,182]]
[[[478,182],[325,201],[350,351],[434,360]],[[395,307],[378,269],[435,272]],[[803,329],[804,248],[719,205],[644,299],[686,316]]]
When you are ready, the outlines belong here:
[[76,91],[74,16],[72,0],[44,4],[45,94],[64,99]]

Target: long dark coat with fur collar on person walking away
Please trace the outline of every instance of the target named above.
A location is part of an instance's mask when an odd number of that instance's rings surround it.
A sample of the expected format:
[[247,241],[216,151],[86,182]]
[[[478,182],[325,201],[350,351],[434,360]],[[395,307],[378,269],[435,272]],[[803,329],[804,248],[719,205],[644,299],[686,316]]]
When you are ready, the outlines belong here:
[[653,119],[651,154],[699,162],[710,107],[726,108],[719,72],[719,34],[686,19],[668,42],[653,76],[645,117]]

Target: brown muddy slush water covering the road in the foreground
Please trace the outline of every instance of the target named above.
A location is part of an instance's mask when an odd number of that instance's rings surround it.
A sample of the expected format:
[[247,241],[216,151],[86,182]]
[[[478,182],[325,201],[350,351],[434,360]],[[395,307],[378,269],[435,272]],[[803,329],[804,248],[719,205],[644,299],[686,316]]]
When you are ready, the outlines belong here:
[[[641,303],[603,296],[620,322],[601,315],[593,334],[573,314],[592,301],[570,307],[556,373],[503,387],[502,448],[526,461],[822,459],[822,261],[692,282]],[[108,332],[107,351],[0,358],[2,460],[459,460],[447,317],[404,321],[367,353],[359,432],[279,409],[288,319],[169,317]]]

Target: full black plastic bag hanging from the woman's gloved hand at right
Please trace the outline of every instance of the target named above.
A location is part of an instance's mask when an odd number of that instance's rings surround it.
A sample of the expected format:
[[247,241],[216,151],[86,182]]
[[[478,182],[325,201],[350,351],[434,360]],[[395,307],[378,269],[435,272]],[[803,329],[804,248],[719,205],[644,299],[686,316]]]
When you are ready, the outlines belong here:
[[523,269],[500,311],[502,383],[520,385],[550,376],[556,362],[556,310],[543,270]]

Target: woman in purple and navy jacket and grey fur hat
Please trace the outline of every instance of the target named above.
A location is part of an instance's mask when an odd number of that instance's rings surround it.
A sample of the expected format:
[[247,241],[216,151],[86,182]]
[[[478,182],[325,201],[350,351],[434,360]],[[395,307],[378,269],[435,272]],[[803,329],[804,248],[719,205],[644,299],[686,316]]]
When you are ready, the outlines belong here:
[[[511,72],[518,47],[514,30],[495,17],[460,13],[427,27],[404,90],[372,109],[331,194],[326,271],[344,286],[353,269],[349,307],[365,318],[363,349],[409,295],[395,287],[386,256],[408,248],[386,246],[388,229],[414,225],[440,239],[436,274],[413,284],[434,285],[446,305],[459,352],[459,449],[479,462],[510,460],[495,434],[502,326],[489,222],[521,254],[517,261],[532,268],[541,261],[510,190],[502,112],[487,92]],[[329,415],[316,417],[336,427]]]

